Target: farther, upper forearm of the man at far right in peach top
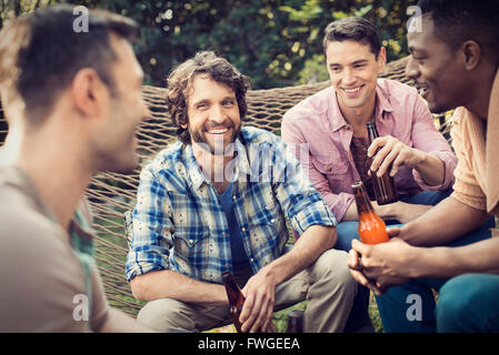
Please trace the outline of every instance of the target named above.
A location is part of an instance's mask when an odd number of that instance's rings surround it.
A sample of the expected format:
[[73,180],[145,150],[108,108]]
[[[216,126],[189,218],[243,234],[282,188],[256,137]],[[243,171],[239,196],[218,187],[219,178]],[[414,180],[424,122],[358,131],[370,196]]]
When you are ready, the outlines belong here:
[[446,245],[477,230],[489,215],[453,197],[401,227],[400,236],[411,245]]

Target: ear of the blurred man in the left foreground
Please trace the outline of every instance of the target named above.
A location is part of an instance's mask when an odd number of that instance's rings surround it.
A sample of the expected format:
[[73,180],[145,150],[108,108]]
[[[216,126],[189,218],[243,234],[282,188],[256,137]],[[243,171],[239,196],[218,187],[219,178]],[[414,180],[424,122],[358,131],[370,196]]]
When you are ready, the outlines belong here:
[[83,115],[96,115],[107,94],[107,87],[91,68],[78,71],[71,82],[71,97],[74,108]]

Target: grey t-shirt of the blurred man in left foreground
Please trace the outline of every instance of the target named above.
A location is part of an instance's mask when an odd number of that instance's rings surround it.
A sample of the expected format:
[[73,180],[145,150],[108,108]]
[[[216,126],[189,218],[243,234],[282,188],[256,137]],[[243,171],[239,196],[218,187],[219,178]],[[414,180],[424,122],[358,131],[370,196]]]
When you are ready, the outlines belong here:
[[[91,239],[76,220],[70,233]],[[70,233],[51,220],[21,170],[0,168],[0,332],[91,332],[104,323],[99,273],[91,263],[86,278]]]

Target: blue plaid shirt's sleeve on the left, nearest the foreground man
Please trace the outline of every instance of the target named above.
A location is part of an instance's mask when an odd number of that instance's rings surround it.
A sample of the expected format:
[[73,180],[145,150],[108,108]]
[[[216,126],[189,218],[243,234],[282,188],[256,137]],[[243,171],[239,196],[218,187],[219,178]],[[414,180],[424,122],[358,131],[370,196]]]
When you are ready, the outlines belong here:
[[168,215],[170,200],[151,166],[140,174],[137,204],[133,209],[133,235],[127,255],[126,274],[134,276],[169,268],[173,224]]

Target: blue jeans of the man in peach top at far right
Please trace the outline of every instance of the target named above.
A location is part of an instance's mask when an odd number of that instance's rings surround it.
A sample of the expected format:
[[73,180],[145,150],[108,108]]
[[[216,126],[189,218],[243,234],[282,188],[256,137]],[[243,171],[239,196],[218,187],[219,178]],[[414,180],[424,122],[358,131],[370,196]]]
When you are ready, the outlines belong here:
[[[490,237],[489,230],[493,226],[495,220],[493,216],[490,216],[480,229],[458,241],[449,243],[447,246],[462,246],[486,240]],[[478,301],[477,304],[475,304],[475,307],[482,311],[475,313],[473,307],[465,307],[460,312],[467,313],[468,317],[472,318],[473,316],[478,317],[482,312],[490,312],[493,308],[496,312],[496,325],[498,325],[499,304],[497,303],[497,300],[499,296],[499,283],[497,283],[496,286],[481,285],[482,277],[473,275],[463,278],[463,276],[465,275],[461,275],[450,280],[430,277],[415,278],[403,285],[391,287],[382,296],[376,297],[385,331],[388,333],[435,333],[437,332],[437,325],[438,331],[442,329],[443,332],[450,332],[452,328],[458,329],[458,325],[450,326],[450,324],[453,322],[451,321],[452,318],[459,316],[458,314],[450,315],[449,312],[451,311],[449,310],[456,308],[457,305],[462,305],[462,302],[466,303],[470,302],[470,300],[478,300],[480,296],[483,297],[483,301],[487,297],[493,297],[492,304],[489,303],[486,305],[485,303],[481,303],[482,301]],[[499,276],[492,276],[497,277],[497,282],[499,282]],[[475,281],[470,283],[469,277],[472,277]],[[475,293],[472,290],[467,290],[468,293],[461,293],[460,290],[471,284],[475,286]],[[495,295],[481,294],[481,292],[488,292],[486,290],[489,287],[496,290]],[[432,288],[439,292],[441,290],[437,310]],[[477,295],[477,293],[479,295]],[[420,315],[418,317],[408,316],[409,307],[416,305],[413,298],[411,298],[415,295],[420,300],[421,306]],[[459,320],[459,322],[466,323],[463,318]],[[481,324],[481,321],[476,320],[476,323]],[[469,327],[471,328],[471,324]],[[465,329],[465,327],[460,328],[462,331]],[[499,331],[499,328],[496,327],[496,331]]]

